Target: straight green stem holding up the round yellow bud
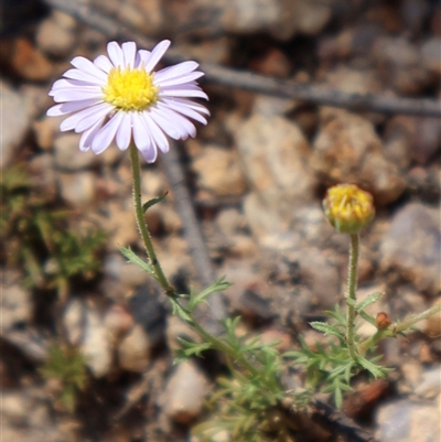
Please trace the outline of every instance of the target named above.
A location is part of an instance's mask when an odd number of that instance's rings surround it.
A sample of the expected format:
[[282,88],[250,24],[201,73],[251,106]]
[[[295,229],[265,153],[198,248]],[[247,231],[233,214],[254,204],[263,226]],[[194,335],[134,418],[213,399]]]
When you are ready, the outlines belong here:
[[347,292],[346,292],[346,343],[349,351],[349,355],[354,362],[358,360],[357,353],[355,349],[354,334],[355,334],[355,302],[356,302],[356,289],[357,289],[357,263],[359,254],[359,236],[353,234],[351,237],[351,249],[349,249],[349,263],[347,271]]

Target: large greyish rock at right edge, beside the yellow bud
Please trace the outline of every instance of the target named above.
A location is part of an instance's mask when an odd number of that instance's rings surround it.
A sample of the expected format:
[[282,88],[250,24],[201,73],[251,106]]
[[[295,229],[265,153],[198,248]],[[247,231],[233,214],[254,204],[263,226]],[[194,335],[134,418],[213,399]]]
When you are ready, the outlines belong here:
[[380,269],[394,269],[418,291],[435,295],[440,290],[439,220],[438,208],[420,203],[409,203],[398,211],[381,244]]

